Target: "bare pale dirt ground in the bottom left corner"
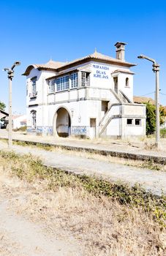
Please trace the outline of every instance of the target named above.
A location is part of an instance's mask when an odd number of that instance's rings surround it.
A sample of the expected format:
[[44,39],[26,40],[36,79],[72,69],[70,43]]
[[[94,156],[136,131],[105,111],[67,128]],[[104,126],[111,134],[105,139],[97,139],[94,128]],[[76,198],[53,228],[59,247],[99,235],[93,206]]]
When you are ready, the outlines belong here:
[[[0,170],[0,255],[83,255],[83,248],[71,233],[66,231],[63,234],[39,216],[31,217],[33,208],[27,206],[27,200],[35,193],[37,187],[29,186]],[[37,212],[43,210],[36,209]]]

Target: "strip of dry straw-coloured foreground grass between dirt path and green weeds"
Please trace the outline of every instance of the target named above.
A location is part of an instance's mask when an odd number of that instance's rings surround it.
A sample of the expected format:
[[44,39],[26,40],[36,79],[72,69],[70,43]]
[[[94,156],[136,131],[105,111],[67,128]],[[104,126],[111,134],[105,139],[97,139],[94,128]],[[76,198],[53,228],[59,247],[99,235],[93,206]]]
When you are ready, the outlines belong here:
[[[1,153],[0,161],[11,207],[32,221],[45,222],[48,232],[56,230],[62,238],[72,234],[83,255],[166,255],[165,227],[143,206],[123,205],[118,194],[117,200],[105,196],[97,184],[83,187],[77,177],[66,173],[53,176],[50,170],[48,176],[48,170],[29,156]],[[93,189],[98,190],[93,193]]]

